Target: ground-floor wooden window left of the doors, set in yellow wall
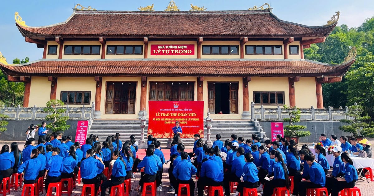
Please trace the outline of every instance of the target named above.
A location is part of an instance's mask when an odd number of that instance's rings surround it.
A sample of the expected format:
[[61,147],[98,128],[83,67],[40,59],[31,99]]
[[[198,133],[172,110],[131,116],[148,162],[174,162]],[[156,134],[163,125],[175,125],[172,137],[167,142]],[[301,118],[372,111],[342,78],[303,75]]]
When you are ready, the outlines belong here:
[[60,100],[69,104],[90,104],[91,91],[61,91]]

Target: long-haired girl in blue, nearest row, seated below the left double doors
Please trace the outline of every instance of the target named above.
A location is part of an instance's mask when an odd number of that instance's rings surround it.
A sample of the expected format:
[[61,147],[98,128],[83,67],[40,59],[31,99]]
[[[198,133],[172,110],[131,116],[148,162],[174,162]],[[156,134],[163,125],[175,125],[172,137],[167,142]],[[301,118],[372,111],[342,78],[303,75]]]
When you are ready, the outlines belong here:
[[[112,154],[113,157],[113,168],[112,168],[112,175],[110,176],[110,180],[105,181],[101,184],[101,196],[105,196],[105,190],[112,186],[116,186],[122,184],[125,181],[126,177],[126,164],[121,156],[120,151],[116,150]],[[123,190],[119,190],[123,191]]]

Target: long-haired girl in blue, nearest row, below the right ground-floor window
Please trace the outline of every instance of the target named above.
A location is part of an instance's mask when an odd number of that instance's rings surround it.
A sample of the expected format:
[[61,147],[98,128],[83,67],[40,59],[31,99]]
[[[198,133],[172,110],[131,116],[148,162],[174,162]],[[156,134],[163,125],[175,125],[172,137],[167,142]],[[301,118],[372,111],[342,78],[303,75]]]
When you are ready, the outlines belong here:
[[276,163],[273,165],[274,176],[270,177],[269,181],[265,182],[266,189],[264,189],[263,196],[273,195],[275,187],[286,187],[289,189],[288,169],[279,151],[275,153],[275,162]]

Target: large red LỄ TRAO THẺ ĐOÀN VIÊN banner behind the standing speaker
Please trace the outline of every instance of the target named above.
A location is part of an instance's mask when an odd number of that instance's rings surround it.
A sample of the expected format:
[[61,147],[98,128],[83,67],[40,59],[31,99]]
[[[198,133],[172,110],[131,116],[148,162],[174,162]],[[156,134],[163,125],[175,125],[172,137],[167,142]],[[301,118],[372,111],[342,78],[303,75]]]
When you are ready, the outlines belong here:
[[149,101],[148,135],[173,138],[172,128],[179,121],[181,138],[204,137],[203,101]]

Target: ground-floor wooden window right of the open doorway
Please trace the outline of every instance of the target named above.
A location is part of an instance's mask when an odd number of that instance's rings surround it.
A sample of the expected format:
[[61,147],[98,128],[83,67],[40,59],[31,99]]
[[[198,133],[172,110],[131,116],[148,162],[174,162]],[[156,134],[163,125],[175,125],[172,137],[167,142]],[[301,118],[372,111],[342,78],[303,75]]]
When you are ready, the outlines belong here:
[[253,92],[255,105],[284,105],[284,92]]

